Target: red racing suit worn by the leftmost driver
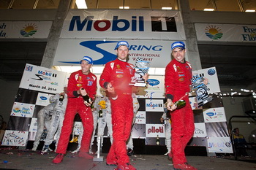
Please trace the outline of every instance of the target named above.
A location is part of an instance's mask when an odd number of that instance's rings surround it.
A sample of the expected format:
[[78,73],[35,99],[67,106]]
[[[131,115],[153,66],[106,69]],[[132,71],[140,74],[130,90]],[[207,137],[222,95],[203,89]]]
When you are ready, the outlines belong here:
[[80,115],[84,128],[80,152],[89,152],[94,120],[91,107],[86,107],[83,103],[83,97],[77,93],[77,90],[82,87],[86,90],[89,97],[94,99],[97,90],[97,77],[91,72],[83,74],[81,70],[70,74],[67,85],[67,109],[56,153],[66,153],[76,113]]

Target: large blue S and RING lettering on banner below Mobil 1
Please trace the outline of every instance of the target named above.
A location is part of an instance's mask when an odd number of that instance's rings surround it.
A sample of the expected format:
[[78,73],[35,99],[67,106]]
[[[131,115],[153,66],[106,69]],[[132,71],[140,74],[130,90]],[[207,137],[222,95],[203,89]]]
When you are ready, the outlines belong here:
[[[86,49],[93,50],[102,55],[102,58],[94,60],[94,65],[102,65],[116,59],[116,54],[110,53],[109,47],[104,47],[105,44],[111,44],[112,49],[115,49],[118,41],[97,41],[89,40],[80,42],[80,45]],[[129,51],[161,51],[162,45],[132,45],[129,43]],[[90,56],[94,59],[94,56]],[[82,57],[81,57],[82,58]],[[60,63],[79,64],[79,61],[59,61]]]

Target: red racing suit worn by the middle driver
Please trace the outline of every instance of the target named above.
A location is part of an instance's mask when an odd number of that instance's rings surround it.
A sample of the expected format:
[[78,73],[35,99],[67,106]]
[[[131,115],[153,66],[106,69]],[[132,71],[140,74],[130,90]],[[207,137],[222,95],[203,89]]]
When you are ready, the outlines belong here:
[[110,98],[113,144],[108,152],[107,163],[129,163],[126,142],[131,133],[133,118],[132,87],[129,82],[134,75],[132,64],[116,59],[106,63],[99,80],[102,88],[107,88],[108,82],[111,82],[118,96],[116,100]]

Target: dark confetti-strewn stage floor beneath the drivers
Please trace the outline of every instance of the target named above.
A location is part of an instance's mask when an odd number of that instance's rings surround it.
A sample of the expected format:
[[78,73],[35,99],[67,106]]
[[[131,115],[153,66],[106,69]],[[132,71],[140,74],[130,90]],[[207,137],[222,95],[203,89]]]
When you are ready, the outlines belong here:
[[[12,147],[0,147],[0,169],[47,169],[47,170],[108,170],[116,166],[107,166],[106,154],[102,162],[88,161],[78,158],[71,152],[67,152],[64,160],[59,164],[51,161],[56,153],[50,152],[41,155],[40,151],[18,150]],[[96,156],[96,155],[95,155]],[[131,163],[138,170],[166,170],[173,169],[172,162],[164,155],[134,155],[130,157]],[[234,158],[217,158],[207,156],[187,156],[188,162],[199,170],[255,170],[256,163],[246,161],[234,161]]]

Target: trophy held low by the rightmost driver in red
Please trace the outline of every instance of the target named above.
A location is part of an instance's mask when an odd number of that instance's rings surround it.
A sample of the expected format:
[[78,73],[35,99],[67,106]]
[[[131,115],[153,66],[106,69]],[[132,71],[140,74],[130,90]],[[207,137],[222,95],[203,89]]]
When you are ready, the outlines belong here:
[[203,83],[205,79],[203,77],[192,78],[192,90],[195,90],[198,107],[202,107],[203,104],[212,101],[212,96],[208,96],[207,87]]

